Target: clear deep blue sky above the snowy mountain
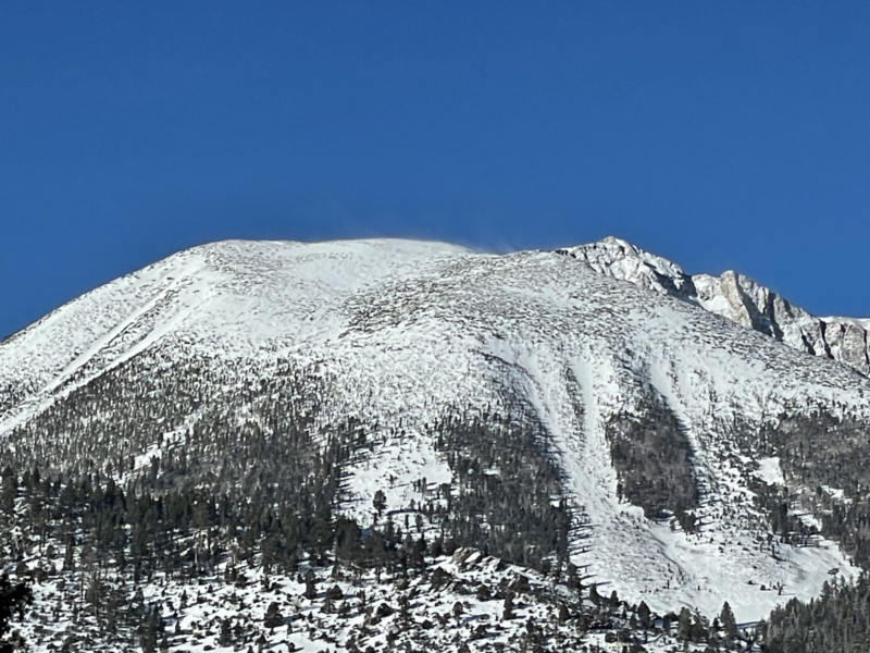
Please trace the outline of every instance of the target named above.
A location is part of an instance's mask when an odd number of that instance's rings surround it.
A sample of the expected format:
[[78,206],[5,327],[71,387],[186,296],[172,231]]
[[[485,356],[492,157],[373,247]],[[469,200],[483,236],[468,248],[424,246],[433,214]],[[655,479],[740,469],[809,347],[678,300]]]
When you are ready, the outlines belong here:
[[608,234],[870,315],[870,3],[40,2],[0,20],[0,334],[228,237]]

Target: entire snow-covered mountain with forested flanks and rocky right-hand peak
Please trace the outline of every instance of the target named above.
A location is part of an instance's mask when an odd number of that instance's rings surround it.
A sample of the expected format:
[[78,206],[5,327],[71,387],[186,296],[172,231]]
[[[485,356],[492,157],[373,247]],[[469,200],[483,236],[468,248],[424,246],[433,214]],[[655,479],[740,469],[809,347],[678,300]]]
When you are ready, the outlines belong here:
[[[388,596],[380,566],[405,559],[417,587],[421,538],[425,574],[460,574],[464,558],[438,556],[474,549],[494,587],[525,569],[533,586],[616,592],[614,609],[712,618],[728,602],[757,621],[870,560],[862,325],[612,238],[505,256],[389,239],[197,247],[0,344],[18,529],[0,558],[60,575],[112,560],[173,596],[243,559],[284,574],[284,595],[287,569],[321,582],[346,559],[377,568],[372,591]],[[104,523],[88,517],[101,510]],[[370,551],[375,533],[391,553]],[[192,628],[159,587],[149,609]],[[46,596],[63,603],[58,586]]]

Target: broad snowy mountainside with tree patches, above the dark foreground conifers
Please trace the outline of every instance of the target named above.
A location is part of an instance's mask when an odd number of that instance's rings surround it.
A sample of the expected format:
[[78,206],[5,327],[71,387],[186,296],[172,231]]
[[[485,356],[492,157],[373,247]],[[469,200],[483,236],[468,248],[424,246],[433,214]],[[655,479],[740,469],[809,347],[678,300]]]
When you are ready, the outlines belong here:
[[403,241],[182,252],[0,345],[0,463],[259,493],[362,527],[380,491],[423,533],[570,559],[662,613],[729,601],[757,619],[852,575],[818,530],[771,515],[796,501],[786,481],[816,486],[790,448],[809,416],[848,429],[838,455],[866,453],[870,380],[673,297],[687,281],[667,262],[635,286],[576,258]]

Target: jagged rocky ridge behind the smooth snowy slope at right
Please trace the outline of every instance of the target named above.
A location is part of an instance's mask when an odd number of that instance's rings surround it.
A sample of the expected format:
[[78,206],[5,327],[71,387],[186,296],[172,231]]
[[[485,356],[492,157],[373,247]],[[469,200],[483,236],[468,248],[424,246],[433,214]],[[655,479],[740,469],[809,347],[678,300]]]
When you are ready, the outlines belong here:
[[598,243],[559,249],[597,272],[696,304],[796,349],[831,358],[870,377],[870,320],[819,318],[748,276],[688,275],[667,259],[609,236]]

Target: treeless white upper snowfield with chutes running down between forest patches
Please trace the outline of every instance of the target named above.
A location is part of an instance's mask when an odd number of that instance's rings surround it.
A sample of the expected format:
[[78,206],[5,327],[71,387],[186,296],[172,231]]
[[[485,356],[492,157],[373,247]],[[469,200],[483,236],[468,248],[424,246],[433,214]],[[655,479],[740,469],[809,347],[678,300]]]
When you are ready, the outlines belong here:
[[[519,396],[545,426],[566,492],[588,518],[572,559],[608,591],[662,613],[691,605],[713,614],[728,600],[739,620],[753,620],[817,594],[831,568],[850,575],[830,542],[775,553],[759,545],[767,527],[746,481],[757,463],[723,424],[812,408],[867,418],[870,380],[722,320],[700,299],[657,292],[687,283],[662,259],[596,267],[566,251],[493,256],[408,241],[184,251],[0,345],[0,433],[137,356],[244,360],[252,370],[288,358],[333,380],[335,420],[353,415],[383,434],[348,469],[341,509],[365,521],[386,478],[390,509],[417,496],[417,479],[451,478],[426,423],[448,407],[483,412]],[[642,412],[649,389],[692,446],[695,534],[618,496],[605,426]],[[767,589],[780,584],[782,594]]]

